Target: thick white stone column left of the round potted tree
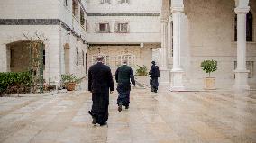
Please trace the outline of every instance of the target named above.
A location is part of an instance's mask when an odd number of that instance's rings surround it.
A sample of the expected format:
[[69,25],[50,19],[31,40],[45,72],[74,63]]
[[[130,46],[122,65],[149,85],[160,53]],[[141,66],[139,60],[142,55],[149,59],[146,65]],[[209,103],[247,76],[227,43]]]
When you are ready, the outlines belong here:
[[183,74],[184,71],[180,62],[181,50],[181,13],[183,13],[183,4],[178,7],[171,7],[172,22],[173,22],[173,67],[171,69],[171,91],[184,90]]

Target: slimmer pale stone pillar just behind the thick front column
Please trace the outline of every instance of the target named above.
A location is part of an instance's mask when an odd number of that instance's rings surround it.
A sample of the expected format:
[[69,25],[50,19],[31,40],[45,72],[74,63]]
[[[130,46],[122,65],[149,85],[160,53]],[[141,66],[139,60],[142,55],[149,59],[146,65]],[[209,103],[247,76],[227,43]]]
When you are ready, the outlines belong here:
[[160,84],[169,84],[168,58],[168,20],[161,20],[161,56],[160,56]]

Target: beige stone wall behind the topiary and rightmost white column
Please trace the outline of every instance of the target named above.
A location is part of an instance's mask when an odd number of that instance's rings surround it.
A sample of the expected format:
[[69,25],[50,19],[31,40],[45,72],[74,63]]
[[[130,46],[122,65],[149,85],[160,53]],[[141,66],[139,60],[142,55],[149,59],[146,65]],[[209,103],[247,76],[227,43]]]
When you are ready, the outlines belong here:
[[[234,42],[234,1],[225,0],[185,0],[185,15],[188,22],[188,50],[187,58],[190,64],[186,65],[189,72],[186,78],[191,83],[203,84],[202,78],[206,74],[201,70],[200,63],[205,59],[218,61],[218,70],[213,73],[219,84],[232,84],[234,61],[236,60],[236,42]],[[256,15],[256,2],[251,1],[253,18]],[[254,18],[253,29],[256,29]],[[256,39],[254,32],[253,41]],[[256,78],[256,42],[247,43],[247,60],[254,61],[254,76]]]

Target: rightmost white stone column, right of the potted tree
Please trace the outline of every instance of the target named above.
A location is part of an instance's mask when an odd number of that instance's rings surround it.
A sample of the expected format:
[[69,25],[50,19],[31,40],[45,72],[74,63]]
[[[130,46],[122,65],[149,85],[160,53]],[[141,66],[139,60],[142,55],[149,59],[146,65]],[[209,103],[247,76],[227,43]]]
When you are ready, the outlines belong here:
[[237,14],[237,67],[234,70],[234,89],[250,89],[248,85],[249,71],[246,69],[246,13],[249,10],[249,7],[234,9]]

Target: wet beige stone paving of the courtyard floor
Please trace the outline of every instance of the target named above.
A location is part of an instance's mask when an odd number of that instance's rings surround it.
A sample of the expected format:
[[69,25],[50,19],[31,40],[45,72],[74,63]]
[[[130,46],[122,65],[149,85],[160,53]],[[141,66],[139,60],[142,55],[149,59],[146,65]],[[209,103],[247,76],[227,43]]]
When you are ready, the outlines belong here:
[[256,92],[151,93],[133,89],[131,108],[93,126],[86,91],[0,98],[2,143],[256,143]]

